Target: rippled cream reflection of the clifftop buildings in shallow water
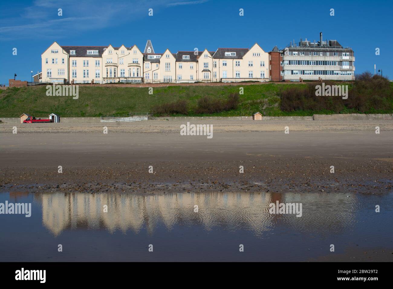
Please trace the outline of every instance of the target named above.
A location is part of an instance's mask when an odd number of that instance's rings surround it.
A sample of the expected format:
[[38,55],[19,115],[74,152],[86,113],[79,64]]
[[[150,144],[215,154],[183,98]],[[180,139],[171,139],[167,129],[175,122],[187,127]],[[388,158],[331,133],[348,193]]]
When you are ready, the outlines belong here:
[[[337,204],[334,196],[339,195],[323,197],[325,203],[322,208],[330,208],[329,213],[334,211],[332,207]],[[160,226],[171,230],[179,225],[200,225],[206,230],[220,226],[260,234],[279,222],[309,230],[308,226],[316,226],[315,219],[322,223],[326,219],[320,214],[320,198],[320,194],[293,193],[179,193],[147,196],[126,193],[35,194],[35,199],[42,203],[42,223],[55,235],[62,230],[78,228],[106,228],[110,232],[132,230],[139,233],[144,227],[152,234]],[[303,216],[270,215],[269,204],[275,201],[302,202]],[[103,212],[104,205],[108,206],[107,213]],[[195,205],[198,206],[198,213],[194,212]],[[310,212],[307,212],[308,208]],[[348,211],[351,211],[350,208]],[[334,216],[327,219],[329,222],[339,220],[339,223],[345,224],[348,216],[353,215],[353,212],[346,215],[347,212],[335,212]]]

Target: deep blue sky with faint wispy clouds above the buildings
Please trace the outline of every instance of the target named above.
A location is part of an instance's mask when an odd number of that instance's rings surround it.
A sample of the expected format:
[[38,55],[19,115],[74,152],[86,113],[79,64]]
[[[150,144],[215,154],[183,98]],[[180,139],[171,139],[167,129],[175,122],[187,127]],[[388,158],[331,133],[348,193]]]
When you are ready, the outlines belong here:
[[[155,52],[218,47],[266,51],[300,38],[336,39],[355,52],[356,73],[382,69],[393,79],[391,1],[40,0],[0,4],[0,83],[31,80],[41,53],[60,45],[131,46],[151,39]],[[62,9],[62,16],[57,14]],[[153,16],[148,9],[153,9]],[[239,9],[244,16],[239,16]],[[330,9],[334,16],[330,16]],[[13,55],[17,48],[17,55]],[[375,55],[380,48],[380,55]]]

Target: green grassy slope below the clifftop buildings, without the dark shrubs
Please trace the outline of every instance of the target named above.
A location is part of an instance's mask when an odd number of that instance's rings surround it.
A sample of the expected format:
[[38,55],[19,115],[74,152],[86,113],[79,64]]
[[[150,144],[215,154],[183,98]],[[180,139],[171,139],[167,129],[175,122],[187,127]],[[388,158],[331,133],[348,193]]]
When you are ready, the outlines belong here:
[[[260,84],[238,86],[171,86],[149,88],[134,87],[94,87],[80,86],[79,99],[71,96],[46,96],[45,86],[8,88],[0,90],[0,116],[17,117],[22,113],[35,116],[48,116],[55,112],[63,117],[101,116],[128,112],[151,112],[156,105],[185,100],[189,106],[189,116],[196,114],[198,99],[212,97],[226,99],[231,93],[240,94],[237,109],[209,114],[211,116],[247,116],[259,111],[266,116],[309,116],[312,114],[332,114],[333,110],[296,110],[280,109],[279,95],[291,88],[305,88],[307,84]],[[393,86],[392,86],[393,87]],[[393,90],[392,90],[393,91]],[[345,112],[345,110],[343,111]],[[356,112],[348,110],[347,112]],[[379,113],[392,113],[384,110]]]

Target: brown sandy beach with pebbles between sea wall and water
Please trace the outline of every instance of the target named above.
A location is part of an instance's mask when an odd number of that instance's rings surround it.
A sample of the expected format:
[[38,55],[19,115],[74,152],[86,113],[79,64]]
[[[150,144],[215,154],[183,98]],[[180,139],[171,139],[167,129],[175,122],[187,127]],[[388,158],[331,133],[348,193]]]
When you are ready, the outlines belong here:
[[21,124],[17,134],[2,124],[0,191],[383,193],[393,186],[392,121],[206,120],[211,139],[181,136],[183,123]]

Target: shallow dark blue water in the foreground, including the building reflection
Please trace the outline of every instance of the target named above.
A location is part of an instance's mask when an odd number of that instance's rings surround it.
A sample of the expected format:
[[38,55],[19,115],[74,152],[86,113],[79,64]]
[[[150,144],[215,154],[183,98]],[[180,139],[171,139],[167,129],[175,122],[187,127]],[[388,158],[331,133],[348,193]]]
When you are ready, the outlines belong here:
[[[31,217],[0,214],[0,261],[307,261],[393,248],[393,193],[0,193],[6,201],[31,203]],[[277,201],[302,204],[301,217],[270,214]]]

